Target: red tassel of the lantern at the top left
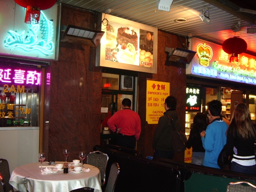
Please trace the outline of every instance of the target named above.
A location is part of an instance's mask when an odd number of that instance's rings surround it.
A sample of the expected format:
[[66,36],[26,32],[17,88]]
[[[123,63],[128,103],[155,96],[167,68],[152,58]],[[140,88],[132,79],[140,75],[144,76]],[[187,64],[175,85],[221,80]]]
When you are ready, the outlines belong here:
[[25,23],[38,24],[40,18],[40,8],[36,6],[28,6],[26,11]]

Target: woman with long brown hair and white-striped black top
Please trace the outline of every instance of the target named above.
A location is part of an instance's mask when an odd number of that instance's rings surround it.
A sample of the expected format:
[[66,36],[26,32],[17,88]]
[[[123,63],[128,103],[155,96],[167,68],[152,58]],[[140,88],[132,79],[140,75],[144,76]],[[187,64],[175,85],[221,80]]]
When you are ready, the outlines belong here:
[[238,103],[232,113],[224,146],[227,154],[233,156],[232,171],[256,175],[255,139],[256,127],[252,123],[249,108],[244,103]]

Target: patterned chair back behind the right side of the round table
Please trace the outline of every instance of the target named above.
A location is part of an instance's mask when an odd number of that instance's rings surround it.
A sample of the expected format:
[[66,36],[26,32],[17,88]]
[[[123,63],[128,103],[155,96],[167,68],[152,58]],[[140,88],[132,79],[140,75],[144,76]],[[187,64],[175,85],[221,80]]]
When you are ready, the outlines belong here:
[[86,162],[89,165],[96,166],[100,170],[102,186],[104,186],[106,178],[106,166],[108,163],[108,155],[102,153],[101,151],[93,151],[87,154]]

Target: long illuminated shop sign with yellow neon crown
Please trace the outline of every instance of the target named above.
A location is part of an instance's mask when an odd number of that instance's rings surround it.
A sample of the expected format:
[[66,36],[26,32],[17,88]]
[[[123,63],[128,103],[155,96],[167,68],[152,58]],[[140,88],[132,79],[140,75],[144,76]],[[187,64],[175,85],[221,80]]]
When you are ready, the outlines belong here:
[[197,54],[186,74],[256,85],[256,57],[242,53],[237,62],[229,62],[231,55],[222,46],[197,38],[192,38],[192,50]]

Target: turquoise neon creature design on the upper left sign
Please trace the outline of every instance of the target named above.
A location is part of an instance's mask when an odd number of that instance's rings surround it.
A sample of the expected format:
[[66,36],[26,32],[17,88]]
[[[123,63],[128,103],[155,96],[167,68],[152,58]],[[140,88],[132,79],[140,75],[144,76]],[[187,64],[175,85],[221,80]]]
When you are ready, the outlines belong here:
[[[43,17],[39,24],[30,25],[28,35],[25,35],[25,30],[20,34],[17,31],[9,30],[8,33],[10,36],[4,40],[4,46],[10,47],[10,50],[21,48],[28,52],[32,50],[38,50],[45,55],[54,54],[54,43],[52,42],[52,21],[48,20],[42,11],[41,16]],[[41,34],[40,37],[37,35],[39,31]]]

